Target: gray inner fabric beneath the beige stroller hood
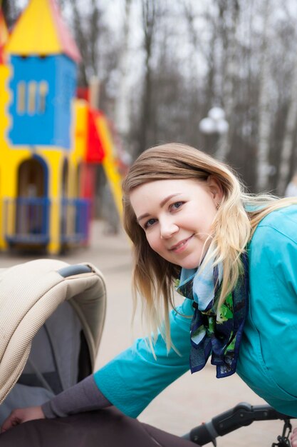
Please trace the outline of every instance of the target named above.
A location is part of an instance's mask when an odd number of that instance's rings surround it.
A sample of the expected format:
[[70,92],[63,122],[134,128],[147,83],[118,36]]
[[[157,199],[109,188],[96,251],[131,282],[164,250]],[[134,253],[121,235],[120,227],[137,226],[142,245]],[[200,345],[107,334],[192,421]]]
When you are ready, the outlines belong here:
[[61,303],[33,338],[23,373],[0,406],[0,425],[14,408],[41,405],[78,382],[80,331],[71,304]]

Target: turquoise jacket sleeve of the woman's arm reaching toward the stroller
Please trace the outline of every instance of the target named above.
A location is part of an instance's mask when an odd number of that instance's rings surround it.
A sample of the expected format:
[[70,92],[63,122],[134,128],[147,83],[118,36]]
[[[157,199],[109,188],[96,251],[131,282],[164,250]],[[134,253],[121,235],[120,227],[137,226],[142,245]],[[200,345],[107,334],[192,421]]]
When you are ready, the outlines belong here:
[[173,348],[158,336],[155,357],[145,338],[139,338],[123,353],[94,374],[95,383],[108,400],[127,416],[139,413],[170,383],[189,370],[192,300],[187,298],[170,313]]

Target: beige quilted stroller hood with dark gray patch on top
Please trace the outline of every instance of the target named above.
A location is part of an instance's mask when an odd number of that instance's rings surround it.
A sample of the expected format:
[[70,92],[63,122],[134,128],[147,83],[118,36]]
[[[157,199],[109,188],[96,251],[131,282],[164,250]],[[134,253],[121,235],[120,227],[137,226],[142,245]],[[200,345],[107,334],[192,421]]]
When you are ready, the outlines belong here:
[[90,263],[53,259],[0,269],[0,403],[21,376],[36,333],[65,301],[85,334],[93,371],[105,320],[102,273]]

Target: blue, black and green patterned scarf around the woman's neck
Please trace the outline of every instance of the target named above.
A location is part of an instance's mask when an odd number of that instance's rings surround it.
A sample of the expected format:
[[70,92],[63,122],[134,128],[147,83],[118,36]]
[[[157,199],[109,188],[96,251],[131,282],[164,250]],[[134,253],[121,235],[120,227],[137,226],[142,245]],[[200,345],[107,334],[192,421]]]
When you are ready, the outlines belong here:
[[241,260],[244,274],[239,276],[234,290],[226,297],[219,315],[217,304],[222,285],[222,265],[213,268],[209,262],[199,275],[198,270],[193,273],[182,268],[176,290],[194,301],[189,357],[192,373],[204,368],[210,354],[212,365],[217,366],[217,378],[231,376],[236,371],[249,298],[247,255],[242,255]]

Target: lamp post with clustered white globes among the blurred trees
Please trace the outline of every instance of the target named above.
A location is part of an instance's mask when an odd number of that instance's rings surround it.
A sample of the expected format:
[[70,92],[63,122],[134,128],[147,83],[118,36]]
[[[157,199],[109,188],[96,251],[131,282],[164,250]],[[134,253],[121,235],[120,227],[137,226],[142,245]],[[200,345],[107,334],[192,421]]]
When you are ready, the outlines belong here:
[[229,123],[225,119],[225,112],[221,107],[212,107],[207,117],[199,122],[199,130],[205,135],[217,136],[217,159],[223,160],[225,155],[226,142],[223,136],[229,131]]

